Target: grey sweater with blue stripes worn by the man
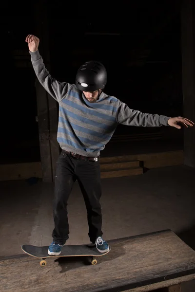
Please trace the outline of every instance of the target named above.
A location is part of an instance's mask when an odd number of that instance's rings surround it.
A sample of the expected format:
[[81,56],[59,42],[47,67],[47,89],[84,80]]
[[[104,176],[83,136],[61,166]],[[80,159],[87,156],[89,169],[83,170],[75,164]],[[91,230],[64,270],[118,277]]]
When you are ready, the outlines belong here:
[[168,126],[169,117],[131,110],[125,103],[104,92],[95,103],[90,103],[75,84],[59,82],[51,77],[39,51],[30,52],[30,55],[40,84],[59,102],[57,140],[62,149],[88,157],[98,156],[118,124]]

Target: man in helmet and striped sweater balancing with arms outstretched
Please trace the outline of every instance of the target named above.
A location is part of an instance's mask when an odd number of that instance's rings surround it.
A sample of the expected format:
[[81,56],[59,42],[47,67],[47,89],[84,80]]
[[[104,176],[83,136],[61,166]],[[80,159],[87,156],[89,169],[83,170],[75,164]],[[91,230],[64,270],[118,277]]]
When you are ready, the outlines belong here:
[[40,84],[59,102],[58,142],[62,149],[57,162],[53,207],[55,228],[49,255],[59,255],[69,238],[67,201],[78,180],[86,209],[89,238],[101,253],[109,251],[102,238],[102,215],[99,153],[104,149],[118,124],[127,126],[181,128],[194,123],[182,117],[141,113],[131,110],[116,97],[102,90],[107,83],[105,67],[97,61],[84,63],[77,72],[76,85],[58,82],[46,70],[39,55],[39,38],[26,37],[31,61]]

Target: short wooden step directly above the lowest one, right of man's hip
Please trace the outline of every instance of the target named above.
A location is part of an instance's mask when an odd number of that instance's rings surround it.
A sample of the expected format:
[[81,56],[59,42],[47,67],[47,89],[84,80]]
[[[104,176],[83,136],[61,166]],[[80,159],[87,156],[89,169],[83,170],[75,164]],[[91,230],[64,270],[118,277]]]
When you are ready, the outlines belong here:
[[125,162],[113,162],[100,164],[101,171],[115,170],[115,169],[128,169],[139,167],[139,161],[125,161]]

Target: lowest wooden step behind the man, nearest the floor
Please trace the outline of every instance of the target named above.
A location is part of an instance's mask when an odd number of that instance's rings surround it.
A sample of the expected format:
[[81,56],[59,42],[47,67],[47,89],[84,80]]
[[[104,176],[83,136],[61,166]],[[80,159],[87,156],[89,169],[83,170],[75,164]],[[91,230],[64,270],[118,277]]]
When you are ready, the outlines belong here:
[[101,179],[143,174],[142,167],[101,171]]

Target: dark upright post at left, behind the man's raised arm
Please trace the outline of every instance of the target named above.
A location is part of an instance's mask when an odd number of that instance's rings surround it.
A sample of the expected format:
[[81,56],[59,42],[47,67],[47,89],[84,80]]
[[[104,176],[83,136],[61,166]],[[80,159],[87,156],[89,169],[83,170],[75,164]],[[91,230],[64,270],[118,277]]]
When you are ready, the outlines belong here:
[[[45,67],[50,72],[49,22],[46,0],[39,0],[39,3],[34,3],[34,16],[36,23],[35,35],[40,38],[39,52],[43,57]],[[59,156],[59,144],[57,141],[58,105],[56,100],[43,89],[38,80],[36,82],[36,92],[43,182],[54,182],[56,162]]]

